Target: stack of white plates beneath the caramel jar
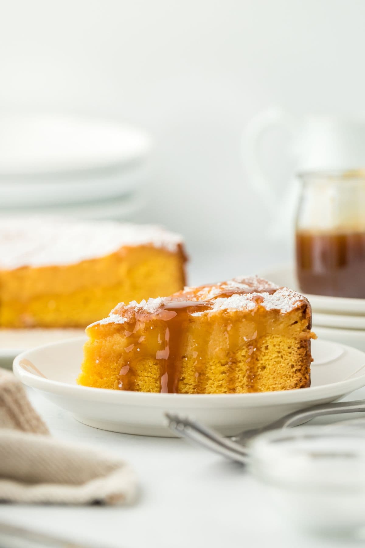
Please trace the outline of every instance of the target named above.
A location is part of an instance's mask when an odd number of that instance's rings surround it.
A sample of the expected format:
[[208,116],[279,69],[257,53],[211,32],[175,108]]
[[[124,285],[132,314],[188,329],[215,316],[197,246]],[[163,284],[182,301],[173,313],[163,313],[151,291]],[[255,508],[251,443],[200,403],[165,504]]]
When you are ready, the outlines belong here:
[[[287,286],[300,292],[291,265],[267,270],[262,275],[279,286]],[[365,299],[309,294],[305,296],[312,305],[313,330],[318,337],[365,351]]]

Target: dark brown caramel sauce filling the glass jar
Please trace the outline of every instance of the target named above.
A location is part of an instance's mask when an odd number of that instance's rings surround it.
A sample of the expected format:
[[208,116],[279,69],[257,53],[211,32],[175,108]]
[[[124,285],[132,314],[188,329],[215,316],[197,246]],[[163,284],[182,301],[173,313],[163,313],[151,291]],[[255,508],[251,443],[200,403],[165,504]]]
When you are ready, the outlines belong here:
[[365,230],[299,230],[296,255],[304,293],[365,299]]

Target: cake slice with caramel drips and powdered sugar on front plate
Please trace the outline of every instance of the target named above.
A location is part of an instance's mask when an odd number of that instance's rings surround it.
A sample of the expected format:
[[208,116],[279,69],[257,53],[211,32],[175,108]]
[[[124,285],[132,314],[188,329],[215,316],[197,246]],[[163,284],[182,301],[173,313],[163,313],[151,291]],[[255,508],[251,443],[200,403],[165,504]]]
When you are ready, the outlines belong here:
[[310,385],[310,304],[258,277],[120,303],[86,334],[85,386],[231,393]]

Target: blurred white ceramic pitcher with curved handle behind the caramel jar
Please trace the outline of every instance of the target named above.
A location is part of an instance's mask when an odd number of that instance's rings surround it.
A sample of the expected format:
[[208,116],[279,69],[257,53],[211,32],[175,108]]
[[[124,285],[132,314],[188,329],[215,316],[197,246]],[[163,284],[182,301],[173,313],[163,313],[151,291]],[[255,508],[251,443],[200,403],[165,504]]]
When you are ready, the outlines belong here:
[[[275,188],[260,161],[260,144],[269,129],[289,134],[287,161],[294,165],[291,178]],[[283,154],[285,152],[283,151]],[[243,160],[249,184],[262,198],[271,216],[269,235],[292,235],[300,185],[298,172],[346,170],[365,167],[365,119],[332,116],[294,117],[279,108],[260,113],[248,123],[243,137]]]

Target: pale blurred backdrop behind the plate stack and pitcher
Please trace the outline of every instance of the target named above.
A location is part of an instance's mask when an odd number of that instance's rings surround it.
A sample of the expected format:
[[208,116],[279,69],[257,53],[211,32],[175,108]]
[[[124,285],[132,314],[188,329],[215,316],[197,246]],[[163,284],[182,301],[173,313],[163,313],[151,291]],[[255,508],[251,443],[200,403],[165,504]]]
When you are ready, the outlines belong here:
[[[289,254],[265,246],[269,219],[245,177],[242,130],[272,105],[362,112],[364,22],[361,0],[2,0],[0,107],[148,129],[150,205],[138,220],[183,233],[195,260],[231,250],[224,275],[234,275],[244,253],[267,254],[260,264]],[[278,140],[268,147],[273,182],[288,172]]]

